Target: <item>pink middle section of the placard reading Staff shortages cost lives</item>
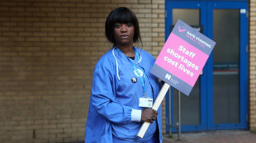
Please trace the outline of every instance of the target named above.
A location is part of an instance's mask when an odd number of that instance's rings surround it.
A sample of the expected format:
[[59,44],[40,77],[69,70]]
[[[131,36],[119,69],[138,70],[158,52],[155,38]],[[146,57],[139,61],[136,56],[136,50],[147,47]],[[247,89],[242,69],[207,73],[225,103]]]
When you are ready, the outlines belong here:
[[209,56],[173,33],[168,39],[155,64],[170,71],[187,84],[195,85]]

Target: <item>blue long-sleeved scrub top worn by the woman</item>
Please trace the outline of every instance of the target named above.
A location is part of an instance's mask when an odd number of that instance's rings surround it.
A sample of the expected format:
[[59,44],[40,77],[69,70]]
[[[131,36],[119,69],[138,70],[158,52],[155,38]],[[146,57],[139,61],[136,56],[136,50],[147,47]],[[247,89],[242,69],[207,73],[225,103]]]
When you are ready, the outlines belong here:
[[[135,50],[140,58],[135,57],[133,62],[137,69],[145,73],[146,95],[155,99],[159,94],[159,81],[149,72],[155,59],[140,48]],[[132,108],[144,109],[139,107],[139,98],[144,95],[140,77],[136,76],[130,60],[120,50],[112,48],[97,62],[93,73],[85,142],[112,142],[113,135],[124,141],[143,142],[154,136],[157,129],[159,141],[162,141],[161,108],[157,122],[150,124],[142,139],[136,136],[142,122],[130,122]],[[132,82],[133,77],[136,77],[137,82]]]

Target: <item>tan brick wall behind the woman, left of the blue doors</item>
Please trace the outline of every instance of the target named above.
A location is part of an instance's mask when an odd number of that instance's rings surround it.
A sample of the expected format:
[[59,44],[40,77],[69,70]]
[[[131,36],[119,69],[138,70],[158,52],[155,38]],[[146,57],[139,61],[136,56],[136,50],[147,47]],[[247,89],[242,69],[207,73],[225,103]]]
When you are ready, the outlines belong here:
[[83,141],[92,72],[111,48],[104,24],[115,7],[135,12],[143,48],[156,57],[164,0],[0,2],[1,142]]

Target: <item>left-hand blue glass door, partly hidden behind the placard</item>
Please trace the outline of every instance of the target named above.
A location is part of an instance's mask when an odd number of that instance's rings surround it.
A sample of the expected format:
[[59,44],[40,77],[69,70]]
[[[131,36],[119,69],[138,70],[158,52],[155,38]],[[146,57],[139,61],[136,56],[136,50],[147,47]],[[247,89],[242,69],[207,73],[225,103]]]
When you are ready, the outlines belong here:
[[[178,19],[191,25],[201,33],[206,35],[206,3],[205,2],[166,2],[167,18],[166,23],[171,27],[166,30],[166,36],[170,34],[173,25]],[[203,71],[202,73],[204,73]],[[181,96],[181,125],[182,131],[204,131],[206,130],[206,108],[202,108],[202,102],[206,100],[206,75],[201,74],[194,85],[189,96]],[[172,131],[177,131],[178,127],[178,90],[171,88],[172,93]],[[168,101],[168,97],[166,98]],[[167,104],[168,105],[168,104]],[[168,107],[167,107],[168,108]],[[168,131],[168,127],[167,131]]]

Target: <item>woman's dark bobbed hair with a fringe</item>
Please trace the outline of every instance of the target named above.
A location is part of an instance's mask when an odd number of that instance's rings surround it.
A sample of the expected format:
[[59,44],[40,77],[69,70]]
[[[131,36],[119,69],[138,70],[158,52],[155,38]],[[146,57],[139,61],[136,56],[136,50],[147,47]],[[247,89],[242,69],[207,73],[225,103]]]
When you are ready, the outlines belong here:
[[118,7],[112,10],[107,16],[105,23],[105,35],[113,44],[116,44],[116,40],[114,39],[114,26],[116,23],[132,24],[135,27],[133,43],[137,42],[138,40],[141,42],[139,21],[134,12],[131,12],[130,9],[126,7]]

